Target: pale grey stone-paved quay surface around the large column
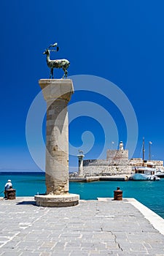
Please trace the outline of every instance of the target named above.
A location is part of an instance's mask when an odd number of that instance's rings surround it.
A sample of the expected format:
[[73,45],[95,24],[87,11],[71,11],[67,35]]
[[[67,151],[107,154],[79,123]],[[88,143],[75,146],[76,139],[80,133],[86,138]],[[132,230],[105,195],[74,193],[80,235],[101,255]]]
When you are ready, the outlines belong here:
[[163,228],[154,223],[164,220],[144,207],[133,199],[44,208],[34,197],[1,198],[0,256],[164,256]]

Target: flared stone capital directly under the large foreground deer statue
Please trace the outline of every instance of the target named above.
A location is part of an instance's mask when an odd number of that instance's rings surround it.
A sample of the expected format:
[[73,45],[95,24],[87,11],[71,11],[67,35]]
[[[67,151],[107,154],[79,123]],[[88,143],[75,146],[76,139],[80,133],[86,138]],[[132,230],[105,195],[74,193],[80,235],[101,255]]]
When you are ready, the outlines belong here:
[[71,94],[74,94],[74,86],[71,79],[40,79],[39,86],[46,102],[55,99],[64,99],[69,102]]

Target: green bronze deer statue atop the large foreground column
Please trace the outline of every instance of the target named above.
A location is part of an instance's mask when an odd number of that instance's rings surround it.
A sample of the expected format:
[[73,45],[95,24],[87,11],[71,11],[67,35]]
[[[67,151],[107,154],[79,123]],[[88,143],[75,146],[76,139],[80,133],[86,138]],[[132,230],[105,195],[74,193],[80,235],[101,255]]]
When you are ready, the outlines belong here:
[[[53,69],[57,68],[57,69],[63,69],[63,77],[62,78],[67,78],[67,74],[68,74],[68,67],[70,65],[70,62],[67,59],[55,59],[55,60],[51,60],[50,59],[50,51],[58,51],[58,43],[55,42],[55,44],[50,45],[49,48],[47,48],[43,54],[47,55],[47,66],[50,67],[50,78],[53,79]],[[51,47],[56,47],[56,50],[50,50]]]

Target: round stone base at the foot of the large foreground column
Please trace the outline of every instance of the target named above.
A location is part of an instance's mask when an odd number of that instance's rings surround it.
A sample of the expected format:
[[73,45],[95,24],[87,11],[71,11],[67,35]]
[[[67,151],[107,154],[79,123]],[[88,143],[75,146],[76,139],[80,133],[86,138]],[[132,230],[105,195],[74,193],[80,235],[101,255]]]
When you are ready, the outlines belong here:
[[79,204],[79,195],[35,195],[36,206],[44,207],[68,207]]

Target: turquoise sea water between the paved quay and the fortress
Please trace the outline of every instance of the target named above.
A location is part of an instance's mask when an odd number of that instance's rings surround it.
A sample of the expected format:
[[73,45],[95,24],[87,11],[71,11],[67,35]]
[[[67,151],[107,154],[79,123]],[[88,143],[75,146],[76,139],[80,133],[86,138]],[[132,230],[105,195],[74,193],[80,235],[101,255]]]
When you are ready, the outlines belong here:
[[[4,184],[12,180],[16,195],[34,196],[44,193],[44,173],[0,173],[0,192],[4,196]],[[97,197],[113,197],[120,187],[123,197],[134,197],[164,218],[164,178],[160,181],[95,181],[90,183],[70,182],[69,192],[79,194],[80,199],[96,200]]]

